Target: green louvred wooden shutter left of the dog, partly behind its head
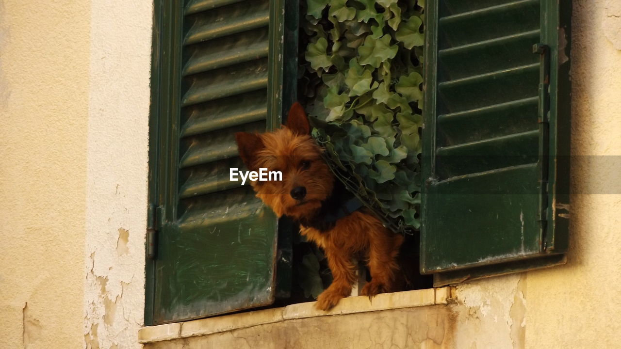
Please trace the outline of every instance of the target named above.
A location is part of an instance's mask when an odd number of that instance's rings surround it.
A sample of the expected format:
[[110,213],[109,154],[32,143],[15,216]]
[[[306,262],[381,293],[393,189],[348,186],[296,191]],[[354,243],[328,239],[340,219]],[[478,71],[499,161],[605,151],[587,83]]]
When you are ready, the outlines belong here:
[[277,127],[295,95],[284,8],[155,1],[147,324],[273,302],[278,221],[229,169],[235,132]]

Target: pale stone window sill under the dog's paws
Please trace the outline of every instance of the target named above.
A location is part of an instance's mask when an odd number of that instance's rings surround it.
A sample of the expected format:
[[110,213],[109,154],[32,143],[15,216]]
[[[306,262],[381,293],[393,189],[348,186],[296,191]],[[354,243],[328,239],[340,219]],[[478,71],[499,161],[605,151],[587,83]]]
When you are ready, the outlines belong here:
[[364,296],[347,297],[342,299],[336,307],[327,312],[315,309],[315,302],[291,304],[290,306],[280,308],[142,327],[142,329],[138,331],[138,342],[153,343],[165,340],[199,337],[244,329],[256,325],[273,324],[275,322],[309,317],[435,306],[437,304],[446,304],[449,297],[450,288],[445,287],[378,294],[378,296],[373,297],[370,301],[368,297]]

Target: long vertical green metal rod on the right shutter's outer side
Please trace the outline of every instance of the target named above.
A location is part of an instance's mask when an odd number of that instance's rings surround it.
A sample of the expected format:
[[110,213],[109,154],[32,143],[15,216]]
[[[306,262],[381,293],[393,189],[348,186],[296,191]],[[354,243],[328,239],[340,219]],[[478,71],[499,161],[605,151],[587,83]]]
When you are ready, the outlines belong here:
[[[548,216],[548,155],[550,148],[550,47],[545,43],[533,45],[533,53],[540,55],[539,64],[539,209],[542,242],[545,243]],[[543,246],[543,250],[546,246]]]

